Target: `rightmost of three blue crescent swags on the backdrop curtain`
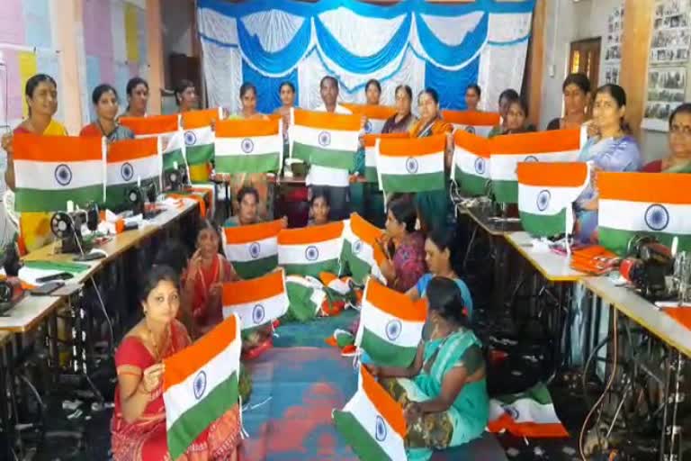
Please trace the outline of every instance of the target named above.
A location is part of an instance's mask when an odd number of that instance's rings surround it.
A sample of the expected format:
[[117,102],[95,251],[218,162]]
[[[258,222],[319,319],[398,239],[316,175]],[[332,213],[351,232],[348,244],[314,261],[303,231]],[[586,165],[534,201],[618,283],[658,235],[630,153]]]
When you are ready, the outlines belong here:
[[442,66],[458,66],[471,59],[487,40],[489,14],[482,15],[474,31],[469,31],[463,41],[450,47],[436,38],[419,14],[416,14],[417,34],[427,56]]

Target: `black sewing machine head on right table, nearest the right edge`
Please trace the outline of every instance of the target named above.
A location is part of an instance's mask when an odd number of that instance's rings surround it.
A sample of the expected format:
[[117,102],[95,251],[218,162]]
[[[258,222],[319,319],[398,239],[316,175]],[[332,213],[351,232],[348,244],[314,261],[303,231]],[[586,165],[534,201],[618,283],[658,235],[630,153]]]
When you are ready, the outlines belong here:
[[635,236],[629,240],[626,253],[620,267],[622,276],[645,298],[652,301],[669,298],[666,277],[674,271],[671,250],[654,237]]

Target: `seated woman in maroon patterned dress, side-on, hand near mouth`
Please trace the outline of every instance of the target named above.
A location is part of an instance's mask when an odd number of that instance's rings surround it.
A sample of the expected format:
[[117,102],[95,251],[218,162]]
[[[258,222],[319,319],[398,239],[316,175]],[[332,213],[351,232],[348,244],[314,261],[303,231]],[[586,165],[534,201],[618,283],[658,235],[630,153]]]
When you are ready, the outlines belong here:
[[387,285],[400,293],[415,286],[426,272],[425,238],[415,230],[417,212],[406,198],[389,203],[386,215],[386,243],[381,248],[386,259],[381,262],[381,274]]

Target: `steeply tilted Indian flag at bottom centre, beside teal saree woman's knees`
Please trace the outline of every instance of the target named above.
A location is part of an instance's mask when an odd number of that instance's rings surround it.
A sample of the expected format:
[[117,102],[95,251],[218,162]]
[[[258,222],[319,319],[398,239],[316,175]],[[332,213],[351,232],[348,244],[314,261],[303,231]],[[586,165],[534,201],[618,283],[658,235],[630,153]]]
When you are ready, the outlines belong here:
[[408,459],[403,407],[364,366],[360,367],[357,392],[342,411],[334,410],[332,416],[338,433],[360,459]]

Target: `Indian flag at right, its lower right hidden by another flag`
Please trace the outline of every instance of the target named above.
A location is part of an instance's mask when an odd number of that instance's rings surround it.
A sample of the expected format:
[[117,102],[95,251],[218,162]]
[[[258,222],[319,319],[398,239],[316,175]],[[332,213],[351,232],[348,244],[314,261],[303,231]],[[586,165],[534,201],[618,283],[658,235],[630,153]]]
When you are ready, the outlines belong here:
[[579,158],[580,131],[558,130],[497,136],[490,141],[489,176],[499,203],[518,203],[518,162],[574,162]]

